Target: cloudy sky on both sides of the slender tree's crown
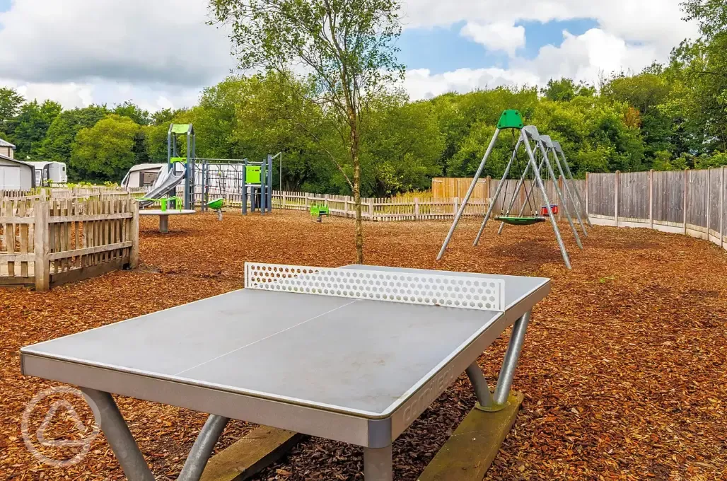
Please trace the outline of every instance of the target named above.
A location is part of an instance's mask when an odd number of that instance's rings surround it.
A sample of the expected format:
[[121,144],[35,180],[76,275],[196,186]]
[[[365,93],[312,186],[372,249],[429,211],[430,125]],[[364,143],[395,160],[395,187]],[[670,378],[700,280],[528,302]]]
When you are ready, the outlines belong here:
[[[639,71],[696,36],[679,0],[403,0],[411,98]],[[190,106],[235,67],[204,0],[0,0],[0,86],[65,107]]]

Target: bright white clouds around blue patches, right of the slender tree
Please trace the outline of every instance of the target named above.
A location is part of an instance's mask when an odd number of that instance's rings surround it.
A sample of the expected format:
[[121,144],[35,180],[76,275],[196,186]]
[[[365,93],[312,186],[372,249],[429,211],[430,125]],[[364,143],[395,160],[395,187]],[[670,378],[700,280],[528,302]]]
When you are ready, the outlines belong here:
[[[419,70],[407,73],[411,98],[438,93],[466,92],[498,85],[546,84],[550,79],[571,77],[595,84],[601,74],[638,72],[654,61],[665,62],[672,47],[694,38],[694,23],[681,20],[680,0],[406,0],[402,16],[406,28],[449,27],[466,22],[462,36],[490,50],[510,54],[508,68],[461,69],[433,75]],[[518,57],[522,42],[515,23],[590,18],[598,23],[582,35],[563,32],[558,45],[545,45],[534,59]]]

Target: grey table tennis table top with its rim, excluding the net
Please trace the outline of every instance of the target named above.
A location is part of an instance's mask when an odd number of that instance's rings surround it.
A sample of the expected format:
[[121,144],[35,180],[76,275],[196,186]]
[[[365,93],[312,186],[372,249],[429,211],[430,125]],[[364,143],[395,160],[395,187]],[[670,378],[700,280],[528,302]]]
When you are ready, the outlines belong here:
[[241,289],[25,347],[23,373],[368,445],[324,415],[399,413],[397,436],[550,291],[537,277],[348,267],[503,279],[505,312]]

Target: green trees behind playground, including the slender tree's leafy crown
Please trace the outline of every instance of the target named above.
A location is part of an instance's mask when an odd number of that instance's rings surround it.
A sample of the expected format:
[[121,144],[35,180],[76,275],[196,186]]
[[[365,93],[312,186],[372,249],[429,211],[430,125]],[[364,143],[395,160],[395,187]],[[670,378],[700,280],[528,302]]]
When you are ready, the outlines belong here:
[[[280,152],[275,188],[353,194],[356,186],[387,196],[427,189],[432,176],[473,175],[500,114],[517,109],[561,142],[578,177],[727,164],[725,0],[686,0],[702,38],[683,41],[667,65],[603,79],[598,91],[553,79],[540,90],[499,87],[419,102],[391,84],[402,72],[395,0],[209,3],[230,25],[241,66],[262,73],[208,87],[191,108],[153,113],[131,101],[62,111],[0,88],[0,137],[17,145],[18,158],[67,162],[73,180],[114,182],[134,163],[165,162],[169,124],[193,123],[198,156],[260,160]],[[295,63],[310,75],[294,75]],[[516,140],[502,132],[484,175],[502,175]]]

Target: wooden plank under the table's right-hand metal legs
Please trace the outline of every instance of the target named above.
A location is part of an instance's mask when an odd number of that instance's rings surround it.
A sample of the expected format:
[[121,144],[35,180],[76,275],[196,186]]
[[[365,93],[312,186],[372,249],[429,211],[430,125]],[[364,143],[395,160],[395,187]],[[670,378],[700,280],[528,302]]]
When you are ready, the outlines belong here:
[[523,394],[515,392],[502,411],[471,410],[417,480],[482,481],[522,402]]

